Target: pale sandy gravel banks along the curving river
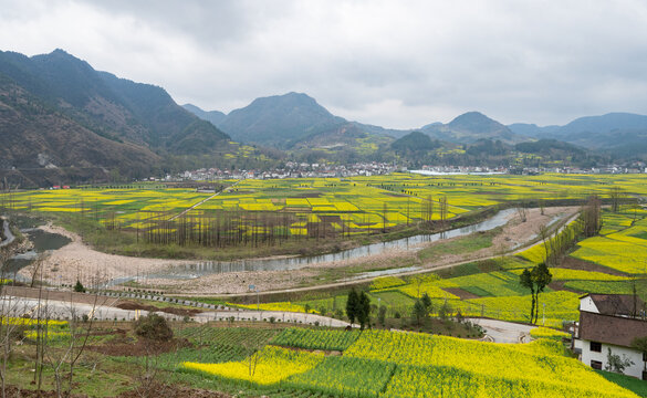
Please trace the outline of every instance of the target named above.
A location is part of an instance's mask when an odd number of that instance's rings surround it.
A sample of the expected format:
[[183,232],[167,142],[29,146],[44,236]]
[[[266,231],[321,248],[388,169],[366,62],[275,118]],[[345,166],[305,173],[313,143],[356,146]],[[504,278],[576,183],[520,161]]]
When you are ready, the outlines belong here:
[[[578,210],[578,207],[545,208],[544,214],[541,214],[540,209],[529,209],[525,222],[521,222],[518,214],[510,217],[502,232],[492,240],[492,247],[467,254],[442,255],[419,265],[435,268],[510,251],[533,240],[540,227],[547,224],[554,217],[570,218]],[[61,227],[48,224],[41,227],[41,229],[72,239],[70,244],[53,251],[43,261],[43,276],[53,284],[73,284],[76,277],[81,277],[84,284],[92,284],[96,277],[105,281],[117,276],[138,274],[144,276],[140,279],[140,283],[176,293],[246,293],[251,284],[255,285],[259,291],[273,291],[311,284],[320,277],[322,271],[325,271],[325,269],[356,268],[363,264],[369,264],[369,268],[374,270],[386,269],[393,266],[396,260],[401,264],[403,260],[407,262],[407,259],[410,259],[410,262],[415,263],[417,259],[415,251],[393,250],[373,256],[321,263],[316,266],[301,270],[230,272],[207,274],[191,280],[148,279],[145,275],[164,271],[173,265],[195,263],[196,261],[143,259],[102,253],[84,244],[77,234]],[[429,244],[434,243],[425,243],[420,248]],[[33,265],[21,270],[20,273],[24,276],[30,276],[32,272]]]

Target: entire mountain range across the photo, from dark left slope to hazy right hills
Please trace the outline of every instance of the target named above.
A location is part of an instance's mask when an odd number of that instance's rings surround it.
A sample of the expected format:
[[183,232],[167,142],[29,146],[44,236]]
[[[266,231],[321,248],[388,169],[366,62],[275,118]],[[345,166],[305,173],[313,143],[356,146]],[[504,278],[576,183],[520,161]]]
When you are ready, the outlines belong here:
[[[241,150],[231,140],[254,147]],[[181,107],[161,87],[95,71],[55,50],[31,57],[0,52],[0,174],[34,185],[285,159],[509,165],[535,154],[524,165],[594,165],[647,158],[647,116],[613,113],[539,127],[469,112],[401,130],[346,121],[300,93],[257,98],[226,115]]]

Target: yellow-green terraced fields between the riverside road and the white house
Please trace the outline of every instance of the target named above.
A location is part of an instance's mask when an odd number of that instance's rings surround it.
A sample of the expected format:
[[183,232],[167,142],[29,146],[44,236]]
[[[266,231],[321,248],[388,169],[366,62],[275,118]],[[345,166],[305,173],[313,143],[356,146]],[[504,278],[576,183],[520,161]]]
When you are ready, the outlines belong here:
[[[607,235],[585,239],[565,259],[588,260],[578,269],[552,266],[553,283],[540,295],[540,324],[561,328],[564,323],[577,321],[578,296],[584,293],[630,294],[634,284],[637,293],[647,300],[647,272],[634,266],[647,256],[647,245],[641,244],[647,213],[644,210],[625,209],[618,213],[603,211],[603,229]],[[606,247],[598,249],[604,256],[587,259],[584,254],[599,240],[614,241],[614,245],[630,247],[636,260],[627,261],[627,252],[614,252]],[[636,243],[634,243],[636,242]],[[647,242],[647,241],[646,241]],[[628,250],[625,248],[625,250]],[[531,296],[519,283],[521,272],[543,261],[543,243],[514,256],[469,263],[455,269],[414,276],[378,277],[366,291],[375,306],[385,306],[387,317],[409,316],[417,298],[427,294],[432,302],[435,316],[441,311],[461,316],[491,317],[502,321],[528,323]],[[345,307],[345,294],[325,298],[295,300],[294,302],[264,303],[261,306],[276,311],[304,311],[333,315]],[[233,304],[234,305],[234,304]]]

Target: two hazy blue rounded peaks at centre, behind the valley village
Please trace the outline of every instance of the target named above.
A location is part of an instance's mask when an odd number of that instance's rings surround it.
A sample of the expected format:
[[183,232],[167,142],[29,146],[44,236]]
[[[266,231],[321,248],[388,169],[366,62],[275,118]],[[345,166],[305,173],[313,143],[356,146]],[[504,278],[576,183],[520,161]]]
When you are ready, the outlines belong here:
[[335,116],[303,93],[257,98],[250,105],[234,109],[228,115],[218,111],[206,112],[191,104],[184,107],[198,117],[213,123],[236,140],[285,149],[309,144],[323,146],[348,144],[344,139],[347,136],[353,138],[383,136],[393,139],[413,130],[420,130],[431,138],[456,144],[473,143],[483,138],[509,144],[529,139],[478,112],[460,115],[446,125],[434,123],[418,129],[386,129]]

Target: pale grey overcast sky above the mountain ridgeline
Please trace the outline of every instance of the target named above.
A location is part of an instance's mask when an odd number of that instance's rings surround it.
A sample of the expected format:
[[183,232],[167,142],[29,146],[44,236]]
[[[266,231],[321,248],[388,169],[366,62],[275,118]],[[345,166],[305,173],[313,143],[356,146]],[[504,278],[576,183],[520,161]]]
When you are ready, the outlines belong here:
[[647,114],[645,0],[0,0],[0,50],[56,48],[177,103],[303,92],[394,128]]

